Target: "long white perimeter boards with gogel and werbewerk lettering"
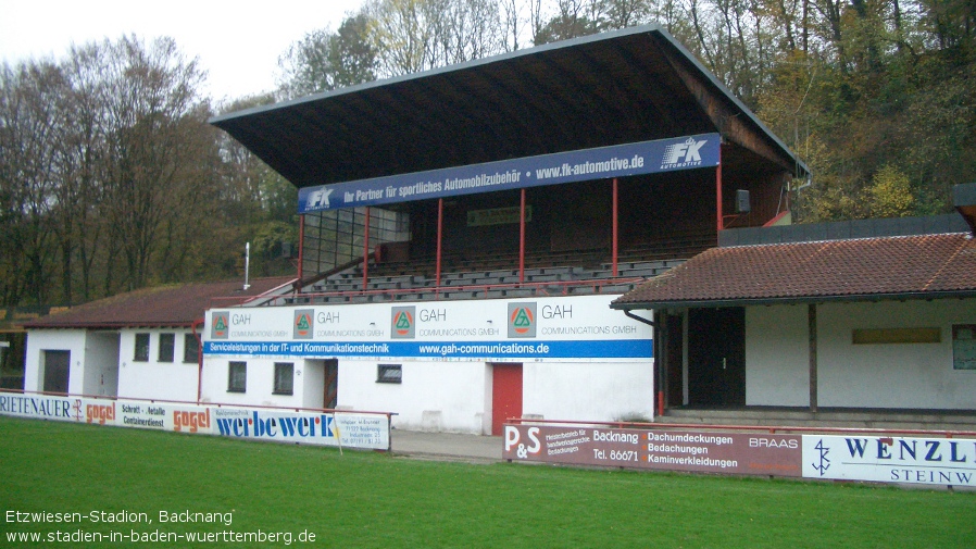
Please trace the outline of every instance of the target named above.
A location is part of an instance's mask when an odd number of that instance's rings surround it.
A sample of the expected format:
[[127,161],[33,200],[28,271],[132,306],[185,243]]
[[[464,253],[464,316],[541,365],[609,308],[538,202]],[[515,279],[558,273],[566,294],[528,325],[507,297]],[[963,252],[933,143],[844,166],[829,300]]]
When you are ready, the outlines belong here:
[[21,394],[0,394],[0,414],[371,450],[387,450],[390,446],[389,421],[384,414]]

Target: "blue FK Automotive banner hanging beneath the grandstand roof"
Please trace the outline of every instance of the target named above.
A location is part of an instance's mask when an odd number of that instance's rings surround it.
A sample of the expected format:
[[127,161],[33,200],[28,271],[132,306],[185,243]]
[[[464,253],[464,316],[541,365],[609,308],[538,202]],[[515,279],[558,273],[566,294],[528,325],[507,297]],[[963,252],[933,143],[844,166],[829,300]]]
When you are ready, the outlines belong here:
[[558,152],[298,190],[298,213],[718,165],[718,134]]

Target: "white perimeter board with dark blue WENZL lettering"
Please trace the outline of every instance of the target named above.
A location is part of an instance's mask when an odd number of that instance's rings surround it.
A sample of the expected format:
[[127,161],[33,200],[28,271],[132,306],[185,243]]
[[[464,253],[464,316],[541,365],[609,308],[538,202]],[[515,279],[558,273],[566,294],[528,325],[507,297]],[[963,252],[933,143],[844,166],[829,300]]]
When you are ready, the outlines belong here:
[[976,439],[804,435],[803,476],[976,486]]

